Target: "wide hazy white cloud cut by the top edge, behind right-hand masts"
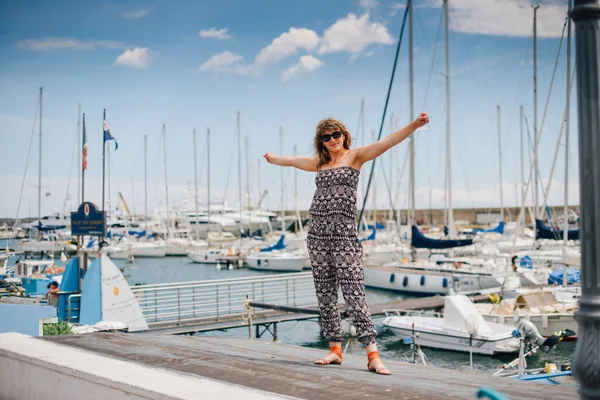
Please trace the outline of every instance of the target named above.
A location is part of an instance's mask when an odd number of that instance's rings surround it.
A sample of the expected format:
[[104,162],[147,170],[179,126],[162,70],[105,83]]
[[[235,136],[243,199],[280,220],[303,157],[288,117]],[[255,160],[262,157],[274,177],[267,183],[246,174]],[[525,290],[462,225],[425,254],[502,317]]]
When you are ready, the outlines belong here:
[[[456,32],[495,36],[531,36],[530,0],[457,0],[450,2],[450,25]],[[560,37],[566,1],[548,0],[538,9],[538,36]]]

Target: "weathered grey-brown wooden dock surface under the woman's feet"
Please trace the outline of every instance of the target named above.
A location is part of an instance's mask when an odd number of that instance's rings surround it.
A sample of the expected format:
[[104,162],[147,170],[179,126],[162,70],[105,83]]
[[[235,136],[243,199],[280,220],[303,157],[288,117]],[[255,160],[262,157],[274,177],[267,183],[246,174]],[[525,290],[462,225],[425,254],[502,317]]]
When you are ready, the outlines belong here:
[[[386,361],[391,376],[366,369],[366,356],[345,354],[343,365],[312,361],[323,350],[260,339],[207,336],[94,333],[39,340],[300,399],[475,399],[481,387],[510,399],[577,398],[575,388],[473,375],[399,361]],[[168,382],[164,382],[168,385]]]

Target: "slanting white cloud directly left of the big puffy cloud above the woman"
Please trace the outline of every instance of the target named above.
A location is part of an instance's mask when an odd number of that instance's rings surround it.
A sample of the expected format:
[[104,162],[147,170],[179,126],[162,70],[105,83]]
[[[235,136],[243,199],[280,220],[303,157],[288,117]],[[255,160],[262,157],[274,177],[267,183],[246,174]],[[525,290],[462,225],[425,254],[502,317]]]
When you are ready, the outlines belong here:
[[319,40],[319,35],[313,30],[290,28],[263,48],[256,56],[254,64],[256,66],[274,64],[296,54],[300,49],[311,51],[319,45]]

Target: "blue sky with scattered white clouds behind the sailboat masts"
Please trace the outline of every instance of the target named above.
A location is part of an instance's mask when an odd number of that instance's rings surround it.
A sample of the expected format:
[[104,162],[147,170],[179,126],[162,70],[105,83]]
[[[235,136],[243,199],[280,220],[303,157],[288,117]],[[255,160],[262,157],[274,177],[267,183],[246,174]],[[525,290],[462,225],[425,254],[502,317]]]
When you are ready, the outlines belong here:
[[[111,201],[118,191],[143,211],[143,137],[148,136],[149,207],[164,205],[161,127],[166,125],[171,206],[193,187],[193,138],[198,130],[201,197],[206,179],[206,129],[210,127],[212,201],[237,207],[236,112],[248,137],[252,201],[258,197],[257,160],[266,151],[311,154],[318,121],[344,121],[358,144],[379,129],[395,45],[404,13],[399,1],[282,2],[262,0],[2,2],[0,4],[0,144],[3,149],[0,216],[14,217],[23,182],[38,90],[44,87],[42,210],[62,210],[67,192],[77,196],[78,104],[86,113],[89,140],[87,199],[99,204],[102,176],[102,111],[119,142],[111,154]],[[518,106],[533,128],[531,3],[522,0],[451,0],[451,130],[453,203],[457,207],[499,204],[496,105],[501,106],[503,188],[516,203],[520,176]],[[415,1],[415,112],[431,124],[416,134],[417,207],[443,206],[446,101],[444,34],[436,41],[442,8],[437,0]],[[539,10],[539,120],[566,16],[566,1],[542,1]],[[397,126],[410,121],[408,31],[396,70],[384,134],[391,112]],[[435,54],[435,57],[434,57]],[[573,49],[574,54],[574,49]],[[431,78],[430,78],[431,77]],[[428,86],[428,82],[430,82]],[[429,89],[427,89],[429,87]],[[574,93],[574,91],[573,91]],[[566,97],[566,40],[548,103],[540,145],[540,174],[547,180]],[[356,132],[365,101],[366,137]],[[572,97],[569,196],[578,203],[576,99]],[[37,128],[34,128],[37,133]],[[242,144],[244,144],[242,142]],[[38,138],[34,137],[20,216],[37,210]],[[550,203],[562,203],[564,148],[559,153]],[[382,157],[392,165],[393,193],[406,144]],[[242,149],[246,166],[246,149]],[[390,159],[390,157],[392,157]],[[231,169],[229,184],[228,170]],[[363,176],[368,173],[363,168]],[[380,166],[377,173],[381,176]],[[70,179],[69,179],[70,175]],[[284,171],[293,205],[293,173]],[[314,176],[298,173],[299,207],[308,208]],[[244,173],[245,180],[245,173]],[[69,183],[69,185],[68,185]],[[227,190],[226,189],[227,186]],[[244,183],[246,186],[246,183]],[[278,209],[280,170],[260,163],[266,204]],[[520,189],[519,189],[520,191]],[[383,179],[377,205],[389,204]],[[75,199],[73,202],[76,203]]]

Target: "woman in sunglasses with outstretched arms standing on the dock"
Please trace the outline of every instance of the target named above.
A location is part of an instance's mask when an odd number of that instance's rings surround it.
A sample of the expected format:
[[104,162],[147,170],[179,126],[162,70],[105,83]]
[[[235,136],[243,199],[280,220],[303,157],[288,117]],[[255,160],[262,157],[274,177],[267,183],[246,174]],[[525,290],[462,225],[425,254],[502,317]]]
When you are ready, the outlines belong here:
[[321,310],[323,334],[330,342],[331,352],[315,364],[342,363],[344,332],[338,309],[338,286],[341,286],[358,340],[367,352],[367,368],[378,374],[390,374],[377,352],[377,331],[365,299],[363,248],[356,229],[356,189],[364,163],[379,157],[427,123],[429,116],[422,113],[412,123],[385,139],[351,149],[352,138],[348,129],[340,121],[327,118],[317,126],[314,157],[278,157],[273,153],[264,155],[271,164],[317,172],[317,189],[309,209],[312,222],[308,230],[307,247]]

